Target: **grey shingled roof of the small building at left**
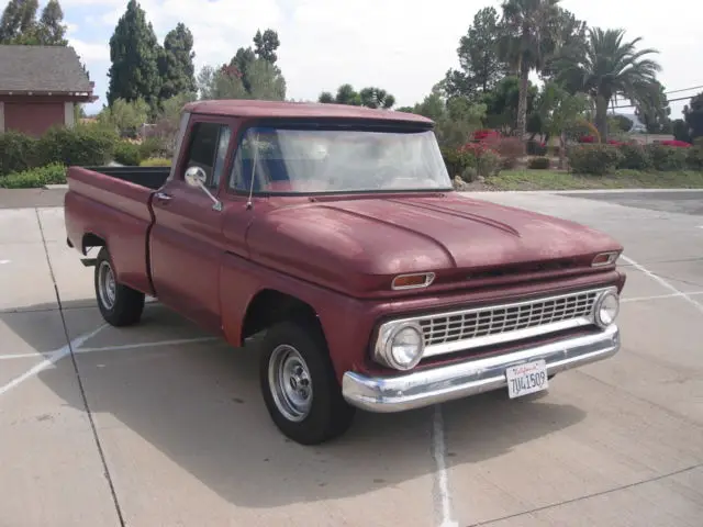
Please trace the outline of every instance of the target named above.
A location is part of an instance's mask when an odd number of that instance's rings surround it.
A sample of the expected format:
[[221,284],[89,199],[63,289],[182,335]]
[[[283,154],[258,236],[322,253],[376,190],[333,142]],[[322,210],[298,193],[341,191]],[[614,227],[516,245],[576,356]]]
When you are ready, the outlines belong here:
[[91,92],[72,47],[0,45],[0,91]]

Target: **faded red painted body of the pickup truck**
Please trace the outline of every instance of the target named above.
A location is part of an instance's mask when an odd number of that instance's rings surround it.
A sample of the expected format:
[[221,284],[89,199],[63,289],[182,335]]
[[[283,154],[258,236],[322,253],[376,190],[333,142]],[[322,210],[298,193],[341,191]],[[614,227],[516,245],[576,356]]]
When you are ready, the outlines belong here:
[[[432,125],[400,112],[324,104],[222,101],[187,109],[222,112],[219,119],[235,135],[257,116]],[[248,119],[234,119],[242,114]],[[186,137],[182,145],[188,143]],[[171,197],[165,202],[144,187],[71,167],[65,202],[70,243],[80,249],[85,234],[101,236],[118,281],[158,296],[233,346],[242,344],[247,310],[261,291],[308,303],[320,317],[339,380],[345,371],[386,371],[368,354],[375,328],[386,317],[595,285],[622,290],[625,283],[615,265],[590,267],[598,253],[622,246],[572,222],[451,191],[319,195],[314,201],[254,195],[248,208],[247,197],[231,191],[227,178],[215,192],[223,203],[216,212],[210,198],[183,182],[182,152],[179,157],[160,189]],[[393,276],[413,271],[434,271],[437,281],[423,291],[391,290]],[[461,359],[440,357],[432,366],[456,360]]]

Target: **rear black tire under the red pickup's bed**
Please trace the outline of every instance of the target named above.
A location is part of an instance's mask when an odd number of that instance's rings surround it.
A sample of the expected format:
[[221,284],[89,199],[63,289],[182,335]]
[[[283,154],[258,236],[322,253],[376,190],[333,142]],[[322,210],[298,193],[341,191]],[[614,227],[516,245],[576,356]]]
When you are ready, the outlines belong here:
[[[114,293],[107,292],[103,279],[111,273]],[[144,311],[144,293],[114,280],[114,267],[107,247],[102,247],[96,259],[94,274],[96,299],[100,314],[113,326],[131,326],[142,318]]]

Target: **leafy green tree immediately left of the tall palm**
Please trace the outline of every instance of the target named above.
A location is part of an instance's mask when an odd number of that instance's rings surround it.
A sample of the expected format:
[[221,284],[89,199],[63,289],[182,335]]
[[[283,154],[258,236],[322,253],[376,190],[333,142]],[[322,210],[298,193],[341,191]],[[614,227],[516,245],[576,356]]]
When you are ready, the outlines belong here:
[[461,69],[449,69],[445,76],[445,90],[450,97],[472,97],[495,86],[505,69],[498,56],[498,11],[483,8],[459,41],[457,54]]

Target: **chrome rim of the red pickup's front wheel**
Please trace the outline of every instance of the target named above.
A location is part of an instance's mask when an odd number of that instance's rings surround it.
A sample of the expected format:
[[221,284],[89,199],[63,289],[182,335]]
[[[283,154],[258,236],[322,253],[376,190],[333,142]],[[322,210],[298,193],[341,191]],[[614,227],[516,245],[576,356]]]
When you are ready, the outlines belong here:
[[268,363],[268,382],[278,411],[287,419],[300,422],[312,406],[312,381],[308,365],[295,348],[277,347]]

